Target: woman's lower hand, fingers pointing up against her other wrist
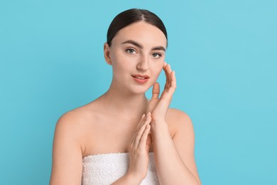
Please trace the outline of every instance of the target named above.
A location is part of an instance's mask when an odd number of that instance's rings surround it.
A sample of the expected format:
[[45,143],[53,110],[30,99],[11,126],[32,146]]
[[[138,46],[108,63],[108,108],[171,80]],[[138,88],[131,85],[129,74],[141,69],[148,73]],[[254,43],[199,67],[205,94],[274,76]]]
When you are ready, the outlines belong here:
[[146,177],[148,169],[148,153],[151,145],[151,136],[148,135],[151,129],[150,122],[151,113],[143,114],[129,145],[129,169],[127,175],[139,181]]

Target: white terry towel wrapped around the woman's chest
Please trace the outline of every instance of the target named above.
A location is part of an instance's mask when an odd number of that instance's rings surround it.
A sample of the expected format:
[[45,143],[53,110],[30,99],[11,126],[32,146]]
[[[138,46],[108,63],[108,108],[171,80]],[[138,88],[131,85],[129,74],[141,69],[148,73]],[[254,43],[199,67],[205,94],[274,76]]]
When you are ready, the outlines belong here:
[[[129,168],[129,153],[96,154],[82,159],[82,185],[110,185]],[[153,152],[149,153],[146,178],[141,185],[159,184]]]

